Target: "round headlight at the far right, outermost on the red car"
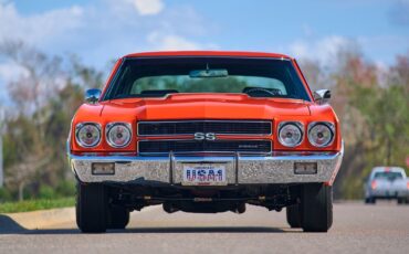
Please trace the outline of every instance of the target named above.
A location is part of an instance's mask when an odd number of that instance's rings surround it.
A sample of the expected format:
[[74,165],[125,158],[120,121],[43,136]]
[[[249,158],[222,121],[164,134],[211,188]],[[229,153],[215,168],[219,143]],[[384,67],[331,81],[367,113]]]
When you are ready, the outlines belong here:
[[312,123],[308,125],[308,140],[314,147],[327,147],[334,140],[335,128],[332,123]]

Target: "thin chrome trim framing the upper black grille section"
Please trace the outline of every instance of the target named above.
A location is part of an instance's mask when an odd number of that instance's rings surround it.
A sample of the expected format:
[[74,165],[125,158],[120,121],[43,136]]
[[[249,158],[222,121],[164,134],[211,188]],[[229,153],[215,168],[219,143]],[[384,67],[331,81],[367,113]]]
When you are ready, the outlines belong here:
[[176,137],[176,136],[188,136],[188,135],[195,135],[192,134],[158,134],[158,135],[144,135],[139,134],[139,124],[166,124],[166,123],[266,123],[270,125],[270,133],[269,134],[219,134],[216,131],[216,135],[223,135],[223,136],[271,136],[273,135],[273,124],[272,120],[240,120],[240,119],[233,119],[233,120],[141,120],[137,123],[137,135],[138,137],[162,137],[162,136],[169,136],[169,137]]

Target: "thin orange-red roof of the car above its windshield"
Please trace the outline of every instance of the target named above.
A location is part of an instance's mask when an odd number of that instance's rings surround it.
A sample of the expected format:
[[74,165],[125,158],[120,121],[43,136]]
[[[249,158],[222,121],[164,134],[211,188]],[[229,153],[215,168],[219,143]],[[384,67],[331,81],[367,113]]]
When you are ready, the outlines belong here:
[[123,57],[153,57],[153,56],[240,56],[240,57],[272,57],[291,60],[289,55],[249,51],[155,51],[127,54]]

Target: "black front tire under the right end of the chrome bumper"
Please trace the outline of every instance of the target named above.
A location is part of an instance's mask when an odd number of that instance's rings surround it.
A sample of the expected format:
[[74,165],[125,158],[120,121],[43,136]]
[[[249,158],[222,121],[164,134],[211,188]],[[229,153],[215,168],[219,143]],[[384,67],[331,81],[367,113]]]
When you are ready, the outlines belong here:
[[302,191],[302,227],[305,232],[327,232],[333,225],[333,188],[305,184]]

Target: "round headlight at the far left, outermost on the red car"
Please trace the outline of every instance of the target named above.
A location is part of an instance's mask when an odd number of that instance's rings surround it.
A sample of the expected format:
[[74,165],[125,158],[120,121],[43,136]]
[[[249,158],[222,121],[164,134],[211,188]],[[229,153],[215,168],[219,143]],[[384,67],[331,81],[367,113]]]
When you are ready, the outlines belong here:
[[101,141],[101,125],[95,123],[78,124],[75,127],[75,137],[82,147],[95,147]]

